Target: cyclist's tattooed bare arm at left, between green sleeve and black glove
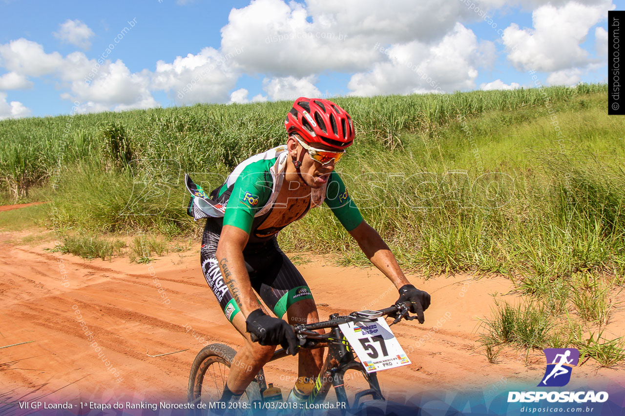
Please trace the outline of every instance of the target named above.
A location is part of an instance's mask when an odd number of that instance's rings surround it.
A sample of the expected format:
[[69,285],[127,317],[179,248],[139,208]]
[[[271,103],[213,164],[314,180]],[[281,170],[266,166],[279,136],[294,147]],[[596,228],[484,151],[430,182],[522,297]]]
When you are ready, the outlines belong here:
[[232,298],[241,308],[244,317],[260,307],[243,259],[243,249],[248,238],[249,234],[244,230],[224,225],[215,253],[224,283],[232,292]]

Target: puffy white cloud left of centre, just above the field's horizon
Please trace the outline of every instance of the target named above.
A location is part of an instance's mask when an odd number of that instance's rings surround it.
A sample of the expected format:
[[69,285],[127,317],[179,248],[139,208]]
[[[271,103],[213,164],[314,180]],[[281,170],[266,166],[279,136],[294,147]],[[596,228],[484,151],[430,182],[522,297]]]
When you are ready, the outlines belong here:
[[212,47],[199,54],[176,57],[168,64],[156,62],[151,87],[168,92],[178,104],[228,102],[238,75],[231,69],[232,57]]

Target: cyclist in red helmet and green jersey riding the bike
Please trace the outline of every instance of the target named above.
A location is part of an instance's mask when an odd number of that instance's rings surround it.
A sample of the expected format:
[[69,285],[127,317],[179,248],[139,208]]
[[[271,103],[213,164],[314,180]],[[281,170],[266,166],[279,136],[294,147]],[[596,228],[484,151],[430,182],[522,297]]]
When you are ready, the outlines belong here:
[[[230,369],[221,397],[225,402],[241,397],[276,345],[296,354],[297,339],[289,323],[319,320],[311,291],[278,247],[276,234],[322,202],[397,287],[398,302],[410,302],[421,324],[430,304],[430,295],[408,282],[384,240],[362,219],[334,171],[354,141],[349,114],[332,101],[299,97],[284,124],[286,146],[243,161],[210,196],[187,177],[193,196],[187,212],[196,219],[207,217],[202,272],[227,319],[245,339],[232,360],[237,365]],[[276,317],[267,313],[254,292]],[[282,320],[284,315],[289,323]],[[322,356],[322,349],[302,350],[299,377],[319,374]]]

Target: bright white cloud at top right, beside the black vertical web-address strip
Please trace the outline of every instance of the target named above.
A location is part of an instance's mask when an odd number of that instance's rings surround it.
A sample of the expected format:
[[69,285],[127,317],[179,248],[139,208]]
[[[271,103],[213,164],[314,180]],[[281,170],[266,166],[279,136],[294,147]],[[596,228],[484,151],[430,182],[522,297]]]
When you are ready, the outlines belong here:
[[533,29],[520,29],[512,23],[502,39],[508,59],[519,70],[561,71],[592,62],[581,47],[589,29],[606,18],[610,0],[582,4],[570,1],[556,7],[546,4],[532,13]]

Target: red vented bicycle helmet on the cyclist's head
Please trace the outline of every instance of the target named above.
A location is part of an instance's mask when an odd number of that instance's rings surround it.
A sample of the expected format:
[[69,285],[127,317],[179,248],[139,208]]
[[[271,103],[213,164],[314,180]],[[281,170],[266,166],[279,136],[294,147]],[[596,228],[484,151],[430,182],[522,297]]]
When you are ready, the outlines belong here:
[[297,133],[307,143],[322,143],[345,149],[354,142],[354,123],[334,102],[322,98],[299,97],[284,121],[287,134]]

